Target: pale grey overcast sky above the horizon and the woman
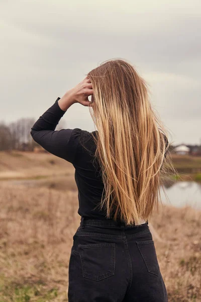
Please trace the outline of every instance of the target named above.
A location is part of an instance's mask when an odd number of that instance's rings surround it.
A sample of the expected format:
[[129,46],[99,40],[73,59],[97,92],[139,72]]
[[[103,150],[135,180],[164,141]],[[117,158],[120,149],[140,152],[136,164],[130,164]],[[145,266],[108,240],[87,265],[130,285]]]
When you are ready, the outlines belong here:
[[[200,0],[2,0],[0,121],[39,118],[104,60],[132,63],[173,144],[201,144]],[[74,104],[65,128],[94,130]]]

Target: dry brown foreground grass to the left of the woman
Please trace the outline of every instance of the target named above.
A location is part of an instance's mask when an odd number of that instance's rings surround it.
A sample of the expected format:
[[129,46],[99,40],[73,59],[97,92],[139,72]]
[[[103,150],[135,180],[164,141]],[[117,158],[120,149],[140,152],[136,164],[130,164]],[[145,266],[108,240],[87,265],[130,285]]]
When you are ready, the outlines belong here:
[[77,193],[4,186],[0,196],[0,301],[67,301]]

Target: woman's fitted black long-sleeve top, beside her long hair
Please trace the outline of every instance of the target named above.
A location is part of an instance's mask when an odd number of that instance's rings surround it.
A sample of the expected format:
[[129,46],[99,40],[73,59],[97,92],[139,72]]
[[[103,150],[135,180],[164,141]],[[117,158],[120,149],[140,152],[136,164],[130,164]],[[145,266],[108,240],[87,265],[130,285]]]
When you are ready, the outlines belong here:
[[84,217],[106,218],[104,210],[96,207],[104,190],[100,167],[97,161],[93,161],[96,146],[92,133],[96,135],[97,131],[88,132],[80,128],[55,131],[59,120],[66,112],[59,107],[59,99],[58,97],[39,117],[30,133],[44,149],[74,166],[78,189],[78,214]]

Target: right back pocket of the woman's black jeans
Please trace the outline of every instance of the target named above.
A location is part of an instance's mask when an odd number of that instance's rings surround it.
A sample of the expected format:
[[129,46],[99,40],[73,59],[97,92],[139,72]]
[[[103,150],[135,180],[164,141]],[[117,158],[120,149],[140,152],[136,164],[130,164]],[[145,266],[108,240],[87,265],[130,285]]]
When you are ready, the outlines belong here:
[[137,241],[136,244],[142,255],[142,258],[144,259],[148,272],[159,276],[160,268],[158,264],[154,241]]

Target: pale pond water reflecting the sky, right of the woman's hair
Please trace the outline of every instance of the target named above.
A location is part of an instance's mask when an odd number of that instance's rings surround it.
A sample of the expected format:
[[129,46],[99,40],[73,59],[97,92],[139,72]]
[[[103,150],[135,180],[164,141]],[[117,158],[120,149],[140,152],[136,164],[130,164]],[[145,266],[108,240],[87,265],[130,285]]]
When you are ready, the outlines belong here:
[[195,209],[201,209],[201,184],[194,181],[178,181],[171,186],[165,187],[169,201],[165,197],[162,187],[160,188],[161,199],[164,204],[177,207],[190,205]]

